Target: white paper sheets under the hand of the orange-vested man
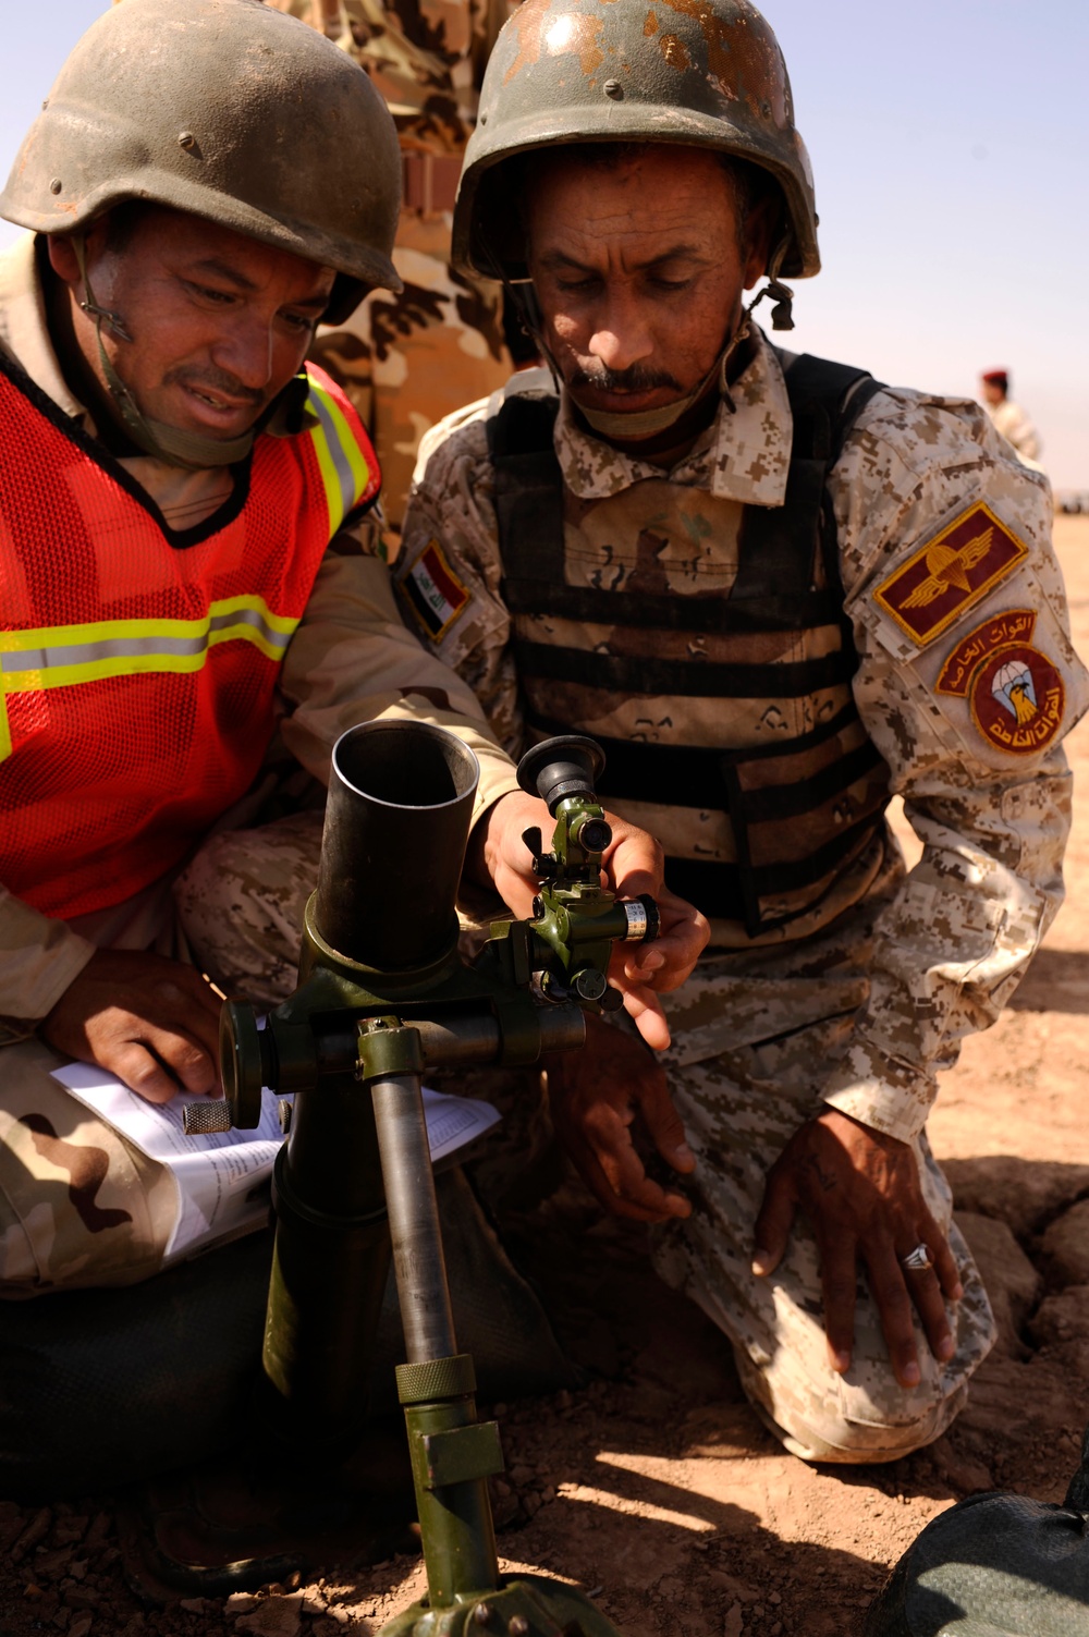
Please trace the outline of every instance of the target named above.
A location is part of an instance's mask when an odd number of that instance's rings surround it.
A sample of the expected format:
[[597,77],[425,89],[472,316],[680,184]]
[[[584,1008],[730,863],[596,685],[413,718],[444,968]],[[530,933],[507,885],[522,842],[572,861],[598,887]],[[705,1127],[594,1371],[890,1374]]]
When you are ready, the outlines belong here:
[[[257,1228],[269,1215],[264,1184],[283,1141],[278,1098],[272,1092],[260,1094],[260,1123],[254,1131],[187,1136],[182,1126],[185,1107],[205,1102],[203,1097],[180,1092],[169,1103],[147,1103],[113,1074],[88,1062],[69,1062],[52,1074],[174,1177],[178,1205],[164,1267],[219,1239]],[[436,1164],[478,1138],[499,1115],[491,1103],[447,1097],[424,1087],[424,1118]]]

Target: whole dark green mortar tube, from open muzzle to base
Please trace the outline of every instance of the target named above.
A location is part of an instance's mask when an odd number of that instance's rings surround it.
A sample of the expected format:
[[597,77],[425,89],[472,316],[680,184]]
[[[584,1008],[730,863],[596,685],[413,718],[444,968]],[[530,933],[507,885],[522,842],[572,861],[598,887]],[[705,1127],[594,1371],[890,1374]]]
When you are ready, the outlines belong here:
[[[473,753],[431,725],[337,740],[314,907],[332,959],[403,972],[454,951],[478,776]],[[332,964],[306,938],[303,969],[319,961]],[[296,1094],[273,1202],[265,1387],[283,1441],[319,1459],[364,1431],[390,1267],[373,1105],[347,1066]]]

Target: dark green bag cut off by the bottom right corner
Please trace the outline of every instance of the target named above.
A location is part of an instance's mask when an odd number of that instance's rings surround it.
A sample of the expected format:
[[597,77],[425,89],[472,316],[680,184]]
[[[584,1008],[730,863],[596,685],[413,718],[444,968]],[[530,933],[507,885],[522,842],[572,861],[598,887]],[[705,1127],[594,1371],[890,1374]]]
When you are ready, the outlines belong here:
[[973,1495],[935,1517],[865,1637],[1089,1637],[1089,1434],[1063,1506]]

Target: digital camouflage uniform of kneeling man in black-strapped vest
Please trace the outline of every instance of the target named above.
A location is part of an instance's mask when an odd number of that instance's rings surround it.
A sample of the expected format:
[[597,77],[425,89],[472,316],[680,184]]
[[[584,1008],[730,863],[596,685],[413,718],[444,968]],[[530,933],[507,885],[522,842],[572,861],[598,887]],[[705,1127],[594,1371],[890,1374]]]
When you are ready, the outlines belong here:
[[[791,409],[783,363],[789,355],[757,332],[714,424],[670,473],[581,431],[562,396],[554,442],[568,503],[568,584],[729,593],[739,503],[775,507],[784,498]],[[509,390],[549,388],[540,377],[521,377]],[[501,396],[452,416],[424,440],[396,578],[409,611],[432,593],[431,612],[418,617],[421,638],[473,686],[501,742],[519,753],[526,728],[514,624],[521,637],[585,652],[630,655],[639,634],[626,627],[626,647],[609,647],[606,627],[554,616],[513,622],[485,434]],[[948,1187],[924,1131],[937,1074],[956,1059],[965,1035],[996,1020],[1058,910],[1069,827],[1058,740],[1089,696],[1050,543],[1046,481],[1010,458],[978,404],[878,393],[847,437],[829,493],[860,655],[855,701],[925,853],[906,874],[881,827],[834,887],[786,927],[750,938],[737,922],[712,920],[693,977],[665,997],[673,1031],[665,1064],[698,1169],[686,1184],[693,1216],[663,1231],[658,1267],[732,1339],[747,1391],[789,1449],[824,1460],[888,1460],[938,1436],[992,1344],[965,1241],[950,1229],[966,1292],[950,1313],[956,1354],[940,1365],[919,1331],[922,1382],[904,1391],[865,1280],[855,1362],[838,1377],[827,1362],[806,1224],[796,1224],[776,1274],[758,1280],[750,1270],[753,1220],[770,1164],[799,1123],[830,1103],[914,1144],[930,1210],[950,1224]],[[598,527],[598,517],[608,525]],[[958,532],[965,521],[971,527]],[[657,578],[647,581],[650,570]],[[441,617],[436,579],[445,586]],[[930,612],[935,602],[940,620]],[[724,640],[706,638],[709,658],[724,656],[712,647]],[[1019,661],[1017,674],[999,676],[999,650]],[[1035,701],[1019,702],[1017,686],[1033,689],[1025,666],[1035,674]],[[1002,689],[1007,696],[997,699]],[[593,689],[565,681],[549,709],[580,732],[729,748],[760,743],[781,725],[775,702],[765,704],[753,720],[734,720],[729,699],[686,699],[680,722],[645,694],[598,701]],[[667,800],[668,792],[648,792],[639,802],[609,797],[609,805],[657,833],[667,853],[734,856],[729,820]]]

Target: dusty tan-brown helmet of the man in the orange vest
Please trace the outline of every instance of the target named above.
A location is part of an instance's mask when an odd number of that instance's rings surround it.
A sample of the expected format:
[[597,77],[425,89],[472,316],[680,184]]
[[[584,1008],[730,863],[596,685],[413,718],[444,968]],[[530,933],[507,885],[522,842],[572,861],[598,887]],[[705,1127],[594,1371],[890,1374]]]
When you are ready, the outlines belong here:
[[124,0],[77,41],[0,214],[75,232],[124,200],[188,211],[341,275],[328,319],[400,290],[393,120],[332,41],[262,0]]

